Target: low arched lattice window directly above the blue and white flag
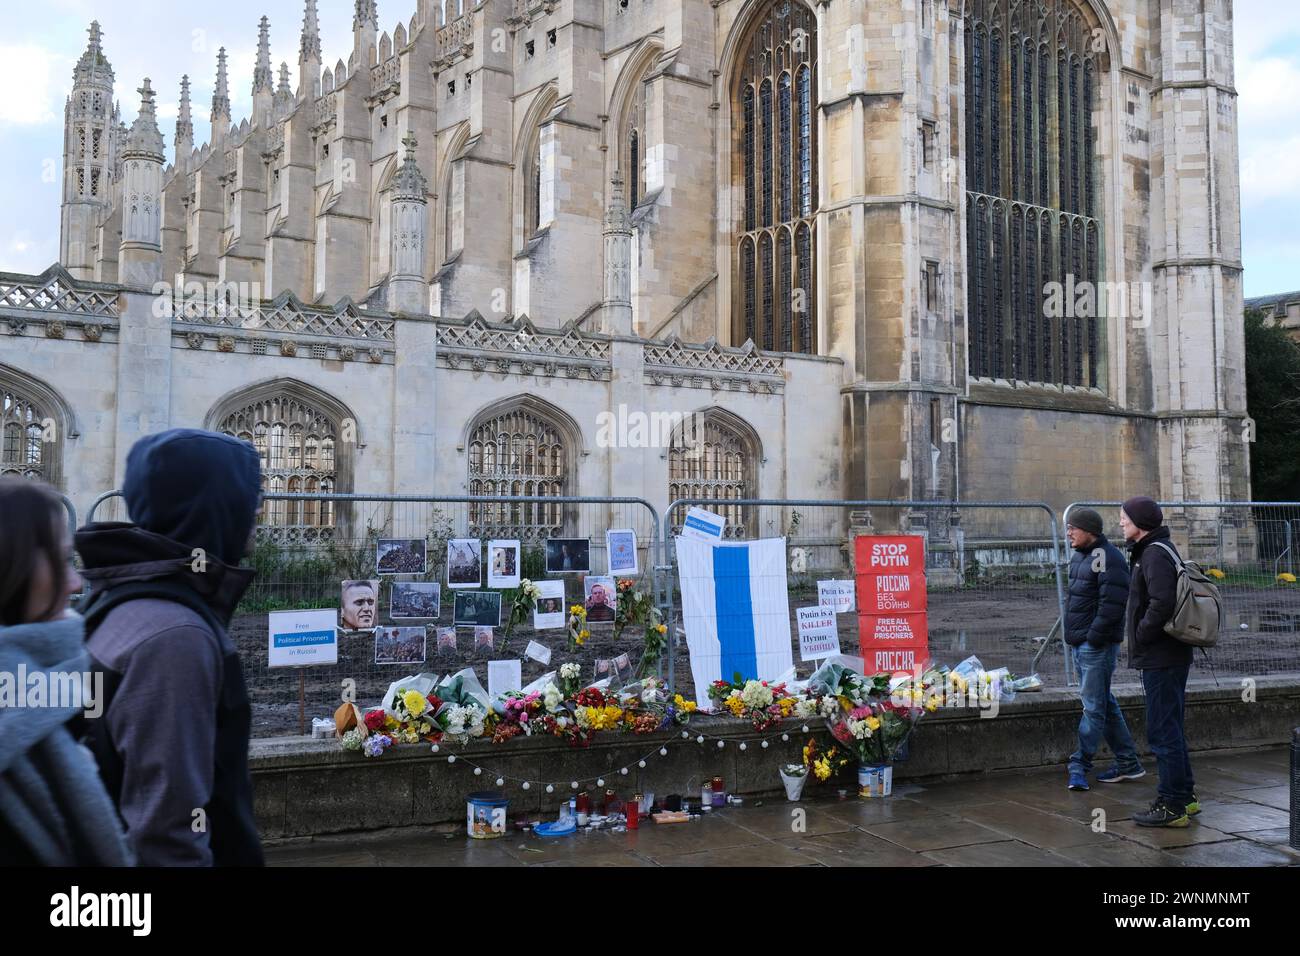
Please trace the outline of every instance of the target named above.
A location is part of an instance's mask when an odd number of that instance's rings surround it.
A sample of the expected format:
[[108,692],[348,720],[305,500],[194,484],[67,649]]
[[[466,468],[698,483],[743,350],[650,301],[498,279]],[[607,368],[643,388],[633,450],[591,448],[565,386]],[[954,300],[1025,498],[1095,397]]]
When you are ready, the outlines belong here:
[[[755,445],[741,425],[716,411],[688,418],[668,447],[668,501],[710,502],[708,510],[727,519],[725,537],[750,537],[753,509],[727,502],[758,497]],[[677,511],[675,518],[685,516],[685,509]]]

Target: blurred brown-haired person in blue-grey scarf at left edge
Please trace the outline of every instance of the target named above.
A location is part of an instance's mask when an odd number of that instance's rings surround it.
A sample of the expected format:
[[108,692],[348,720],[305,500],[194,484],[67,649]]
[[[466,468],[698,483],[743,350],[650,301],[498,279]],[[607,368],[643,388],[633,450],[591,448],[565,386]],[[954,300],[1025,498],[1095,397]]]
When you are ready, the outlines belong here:
[[0,479],[0,680],[9,687],[0,693],[0,866],[130,866],[122,822],[74,734],[96,702],[83,679],[82,619],[68,610],[82,581],[62,502],[36,481]]

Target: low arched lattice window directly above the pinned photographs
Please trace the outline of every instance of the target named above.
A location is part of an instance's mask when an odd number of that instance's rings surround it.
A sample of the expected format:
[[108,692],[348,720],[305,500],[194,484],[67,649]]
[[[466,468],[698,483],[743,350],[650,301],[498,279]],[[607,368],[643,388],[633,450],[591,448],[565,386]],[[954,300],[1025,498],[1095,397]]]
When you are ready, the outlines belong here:
[[[569,486],[569,442],[540,410],[516,406],[481,419],[469,433],[469,494],[560,497]],[[480,537],[542,540],[564,529],[560,502],[469,505],[469,531]]]

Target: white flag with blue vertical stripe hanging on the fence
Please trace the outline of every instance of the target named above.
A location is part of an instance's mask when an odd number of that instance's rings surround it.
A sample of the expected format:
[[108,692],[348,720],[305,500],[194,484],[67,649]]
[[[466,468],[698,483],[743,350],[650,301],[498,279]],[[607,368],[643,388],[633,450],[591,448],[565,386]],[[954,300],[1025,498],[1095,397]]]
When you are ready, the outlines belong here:
[[682,626],[696,702],[712,706],[708,685],[777,680],[794,666],[785,538],[714,542],[677,538]]

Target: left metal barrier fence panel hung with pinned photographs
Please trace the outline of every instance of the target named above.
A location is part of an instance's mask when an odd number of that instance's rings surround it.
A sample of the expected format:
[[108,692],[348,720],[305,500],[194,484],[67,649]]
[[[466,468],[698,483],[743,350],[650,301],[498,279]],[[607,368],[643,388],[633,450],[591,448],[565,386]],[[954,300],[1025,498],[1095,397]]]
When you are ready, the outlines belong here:
[[[510,635],[508,653],[503,653],[503,631],[510,617],[510,591],[502,594],[500,626],[493,628],[486,645],[472,626],[454,627],[455,594],[490,591],[488,571],[489,542],[520,541],[517,572],[532,580],[563,583],[563,600],[558,613],[567,617],[568,607],[582,604],[586,592],[608,576],[606,531],[632,531],[636,535],[637,574],[642,589],[655,593],[655,567],[662,554],[659,515],[654,506],[640,498],[595,497],[469,497],[469,496],[395,496],[395,494],[265,494],[256,545],[244,559],[257,575],[244,593],[230,626],[230,636],[244,662],[250,697],[254,702],[254,734],[268,736],[294,732],[299,724],[300,696],[309,715],[333,714],[339,705],[343,682],[355,682],[355,700],[369,706],[377,702],[389,684],[412,672],[439,675],[477,665],[485,680],[485,662],[498,658],[521,658],[523,683],[528,684],[562,663],[576,661],[586,679],[598,679],[601,662],[610,661],[620,672],[636,669],[641,658],[642,633],[628,627],[615,640],[612,620],[589,613],[590,637],[577,650],[569,649],[567,631],[533,628],[533,618],[517,624]],[[120,519],[121,498],[114,493],[100,496],[88,520]],[[547,571],[546,541],[572,538],[578,546],[572,554],[552,554]],[[448,587],[448,542],[478,542],[478,566],[471,570],[468,554],[455,549],[450,555],[458,580],[480,581],[477,588]],[[381,541],[403,542],[385,551]],[[408,542],[417,542],[416,546]],[[581,542],[588,542],[584,549]],[[422,545],[422,546],[421,546]],[[385,544],[384,548],[389,545]],[[584,554],[585,550],[585,554]],[[424,561],[412,555],[422,551]],[[562,571],[567,559],[572,571]],[[387,562],[386,564],[381,563]],[[590,574],[580,568],[588,567]],[[422,568],[422,570],[421,570]],[[266,613],[292,609],[338,609],[342,581],[378,581],[374,592],[352,588],[350,601],[361,605],[360,623],[378,627],[412,627],[398,632],[395,640],[382,640],[360,630],[339,631],[338,663],[307,669],[270,669],[268,666]],[[406,583],[437,583],[433,589],[398,588]],[[585,587],[586,584],[586,587]],[[394,600],[394,592],[396,600]],[[437,606],[432,605],[438,594]],[[373,601],[373,620],[367,620],[365,605]],[[396,606],[395,606],[396,604]],[[491,618],[490,602],[478,609]],[[394,617],[394,611],[398,617]],[[469,609],[463,609],[468,611]],[[468,619],[468,617],[463,618]],[[347,623],[347,622],[343,622]],[[484,624],[485,627],[488,624]],[[439,630],[452,628],[455,646],[439,646]],[[385,636],[386,637],[386,636]],[[524,656],[530,640],[551,652],[542,665]],[[627,661],[620,658],[627,654]],[[295,672],[296,671],[296,672]]]

